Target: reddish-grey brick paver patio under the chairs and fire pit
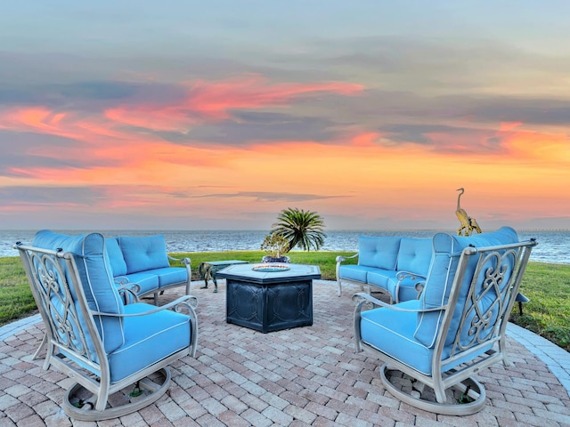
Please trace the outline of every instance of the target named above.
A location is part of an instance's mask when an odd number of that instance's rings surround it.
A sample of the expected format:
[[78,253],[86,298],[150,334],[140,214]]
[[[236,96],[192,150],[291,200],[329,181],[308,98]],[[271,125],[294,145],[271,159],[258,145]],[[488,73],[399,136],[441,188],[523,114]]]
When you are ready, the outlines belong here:
[[[172,366],[173,383],[158,402],[125,417],[69,420],[60,403],[70,380],[31,361],[43,324],[0,342],[0,427],[4,426],[560,426],[570,425],[570,399],[549,368],[509,338],[514,367],[497,365],[478,376],[485,408],[462,417],[434,415],[395,399],[379,381],[377,359],[355,353],[354,304],[347,287],[314,283],[314,325],[262,334],[225,322],[225,282],[199,289],[196,359]],[[161,303],[173,299],[168,291]]]

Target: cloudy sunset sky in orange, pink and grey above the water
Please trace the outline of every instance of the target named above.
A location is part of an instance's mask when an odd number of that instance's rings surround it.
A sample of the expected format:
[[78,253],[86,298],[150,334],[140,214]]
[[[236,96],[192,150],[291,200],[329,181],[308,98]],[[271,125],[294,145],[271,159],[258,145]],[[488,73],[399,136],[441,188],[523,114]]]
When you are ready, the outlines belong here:
[[0,230],[570,229],[570,2],[6,1]]

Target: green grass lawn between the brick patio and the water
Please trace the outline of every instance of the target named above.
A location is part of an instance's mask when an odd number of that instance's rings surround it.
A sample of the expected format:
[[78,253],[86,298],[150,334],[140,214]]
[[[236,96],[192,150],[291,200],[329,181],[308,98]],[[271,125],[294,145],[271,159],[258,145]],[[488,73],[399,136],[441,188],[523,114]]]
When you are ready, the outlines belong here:
[[[337,255],[342,252],[289,252],[291,262],[321,267],[322,279],[335,280]],[[199,280],[198,266],[205,261],[243,260],[259,262],[261,251],[173,254],[191,258],[192,280]],[[356,262],[356,259],[347,262]],[[539,334],[570,351],[570,265],[529,262],[521,292],[531,301],[520,316],[516,306],[510,321]],[[0,258],[0,326],[37,312],[24,270],[18,257]]]

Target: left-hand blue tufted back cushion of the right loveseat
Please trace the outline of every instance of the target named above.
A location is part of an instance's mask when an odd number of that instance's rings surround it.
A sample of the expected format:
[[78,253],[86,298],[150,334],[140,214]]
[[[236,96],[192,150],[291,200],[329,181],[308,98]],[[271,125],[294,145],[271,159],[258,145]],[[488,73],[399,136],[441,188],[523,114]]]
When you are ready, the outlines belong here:
[[395,270],[401,238],[358,238],[358,264],[383,270]]

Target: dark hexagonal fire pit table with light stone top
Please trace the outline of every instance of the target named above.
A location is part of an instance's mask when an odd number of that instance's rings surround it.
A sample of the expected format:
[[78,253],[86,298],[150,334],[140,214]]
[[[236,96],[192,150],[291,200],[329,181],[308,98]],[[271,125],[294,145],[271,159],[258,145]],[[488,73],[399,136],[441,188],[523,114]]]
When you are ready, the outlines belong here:
[[316,265],[235,264],[217,271],[226,279],[226,321],[267,333],[313,325]]

